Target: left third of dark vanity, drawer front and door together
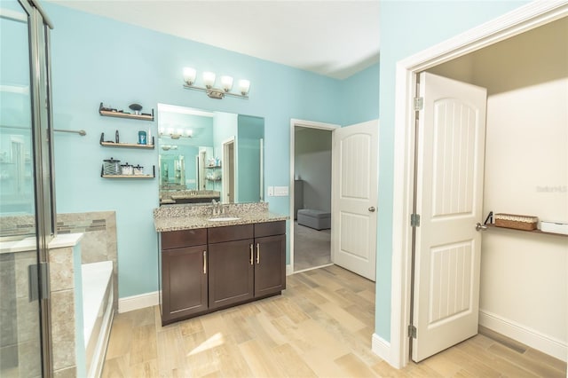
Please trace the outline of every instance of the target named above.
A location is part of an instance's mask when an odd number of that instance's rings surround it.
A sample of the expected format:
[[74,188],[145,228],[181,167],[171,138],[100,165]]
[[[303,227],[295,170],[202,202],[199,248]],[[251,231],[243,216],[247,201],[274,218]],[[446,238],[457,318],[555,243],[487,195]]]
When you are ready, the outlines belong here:
[[162,232],[162,325],[206,311],[207,230]]

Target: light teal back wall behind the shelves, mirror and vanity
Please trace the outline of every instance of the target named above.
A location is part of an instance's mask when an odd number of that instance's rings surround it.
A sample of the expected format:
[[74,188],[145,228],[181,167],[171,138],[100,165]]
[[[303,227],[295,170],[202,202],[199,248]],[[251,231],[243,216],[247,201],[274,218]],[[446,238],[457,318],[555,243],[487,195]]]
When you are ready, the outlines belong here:
[[[343,81],[56,4],[43,7],[55,26],[51,31],[55,127],[87,131],[86,137],[63,133],[55,137],[58,212],[116,211],[119,297],[158,288],[152,219],[158,206],[158,179],[103,179],[101,164],[112,156],[151,167],[158,163],[158,151],[105,148],[99,146],[100,133],[110,136],[119,130],[121,140],[135,141],[138,130],[150,128],[157,135],[157,122],[101,117],[100,102],[126,110],[137,102],[144,106],[143,112],[154,108],[155,114],[157,104],[165,103],[263,117],[265,186],[289,184],[290,118],[342,123],[345,117],[342,91],[348,84]],[[249,79],[248,100],[217,100],[185,90],[186,66],[196,68],[198,75],[211,70]],[[272,211],[288,215],[288,197],[265,198]]]

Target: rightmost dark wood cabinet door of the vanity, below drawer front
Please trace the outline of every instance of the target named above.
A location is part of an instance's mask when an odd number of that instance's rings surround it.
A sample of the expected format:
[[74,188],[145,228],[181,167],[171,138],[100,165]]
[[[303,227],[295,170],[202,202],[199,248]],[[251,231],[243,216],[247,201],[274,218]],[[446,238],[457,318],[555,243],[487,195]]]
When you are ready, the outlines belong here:
[[286,288],[286,235],[255,239],[255,297]]

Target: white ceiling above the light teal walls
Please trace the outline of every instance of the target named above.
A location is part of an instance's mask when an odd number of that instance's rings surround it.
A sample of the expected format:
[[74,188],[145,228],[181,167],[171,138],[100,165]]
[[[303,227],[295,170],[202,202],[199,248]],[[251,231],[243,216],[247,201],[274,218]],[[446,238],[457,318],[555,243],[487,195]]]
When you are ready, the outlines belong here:
[[378,0],[45,1],[337,79],[379,60]]

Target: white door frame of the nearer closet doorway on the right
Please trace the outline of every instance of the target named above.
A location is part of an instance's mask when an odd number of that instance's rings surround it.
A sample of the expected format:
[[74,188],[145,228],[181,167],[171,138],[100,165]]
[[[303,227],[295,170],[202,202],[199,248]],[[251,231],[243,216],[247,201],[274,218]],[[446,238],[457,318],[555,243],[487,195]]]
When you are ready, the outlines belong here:
[[565,1],[533,2],[472,28],[443,43],[400,60],[396,67],[390,343],[373,336],[373,350],[391,366],[409,361],[412,227],[414,200],[414,95],[416,74],[469,52],[483,49],[568,15]]

